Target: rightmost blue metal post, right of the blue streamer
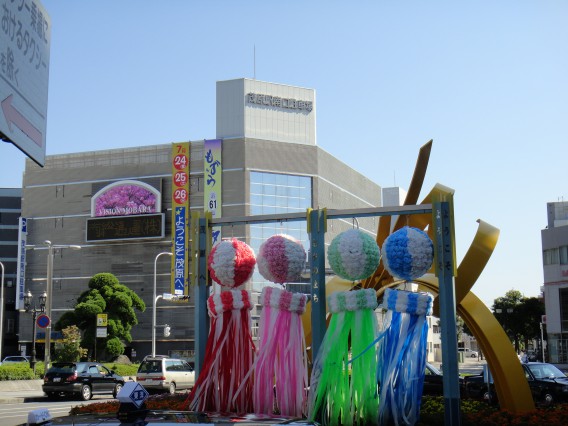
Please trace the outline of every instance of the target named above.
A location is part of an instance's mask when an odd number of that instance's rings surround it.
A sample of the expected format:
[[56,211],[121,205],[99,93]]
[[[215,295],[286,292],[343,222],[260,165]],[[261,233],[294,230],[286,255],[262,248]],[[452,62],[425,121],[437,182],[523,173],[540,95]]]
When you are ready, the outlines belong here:
[[458,369],[458,340],[456,330],[456,295],[450,204],[433,205],[438,276],[440,323],[442,340],[442,366],[444,385],[444,424],[460,425],[460,389]]

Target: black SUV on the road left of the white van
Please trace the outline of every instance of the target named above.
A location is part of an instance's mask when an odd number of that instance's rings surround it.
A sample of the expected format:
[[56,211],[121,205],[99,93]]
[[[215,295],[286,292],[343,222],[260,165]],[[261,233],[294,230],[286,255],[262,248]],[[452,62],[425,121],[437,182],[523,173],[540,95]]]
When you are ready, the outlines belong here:
[[98,362],[56,362],[45,373],[42,389],[49,398],[65,394],[88,401],[102,394],[116,398],[122,386],[124,378]]

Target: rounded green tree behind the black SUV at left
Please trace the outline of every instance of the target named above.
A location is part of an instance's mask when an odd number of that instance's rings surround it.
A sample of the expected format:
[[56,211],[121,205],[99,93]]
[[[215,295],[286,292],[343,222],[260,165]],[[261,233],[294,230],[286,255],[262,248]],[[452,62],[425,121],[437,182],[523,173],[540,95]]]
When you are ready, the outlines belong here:
[[[124,353],[123,342],[132,341],[130,331],[138,324],[135,309],[144,312],[144,301],[113,274],[100,273],[89,280],[89,290],[79,296],[75,310],[61,316],[55,329],[77,325],[83,331],[81,344],[92,348],[95,358],[101,350],[115,358]],[[97,339],[97,314],[103,313],[108,315],[107,337]]]

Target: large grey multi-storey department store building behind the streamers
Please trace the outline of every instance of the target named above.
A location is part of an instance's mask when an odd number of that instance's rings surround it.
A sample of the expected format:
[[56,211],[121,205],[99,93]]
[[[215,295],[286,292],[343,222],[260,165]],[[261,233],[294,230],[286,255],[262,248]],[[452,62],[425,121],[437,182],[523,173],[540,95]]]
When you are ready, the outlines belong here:
[[[208,140],[190,141],[189,209],[203,211],[213,200],[216,216],[229,218],[306,212],[310,207],[381,206],[379,185],[317,145],[316,111],[313,89],[249,79],[217,82],[216,135],[212,139],[220,146],[219,157],[211,157]],[[46,288],[46,240],[54,247],[80,245],[80,250],[54,249],[53,322],[73,308],[93,275],[110,272],[142,297],[147,306],[144,313],[137,312],[139,324],[132,330],[133,341],[126,355],[140,359],[151,352],[154,279],[157,294],[172,292],[170,260],[168,256],[158,259],[157,255],[172,250],[172,221],[176,221],[172,215],[176,198],[172,195],[178,189],[172,173],[173,145],[52,155],[46,158],[43,168],[30,160],[26,162],[22,217],[27,225],[24,237],[28,249],[22,249],[25,262],[18,282],[20,303],[23,291],[30,290],[35,297]],[[216,179],[221,181],[220,190],[213,196],[208,188],[212,164],[216,171],[222,170]],[[99,217],[95,201],[107,189],[125,184],[138,185],[153,194],[157,200],[155,210],[107,209],[110,216]],[[126,217],[126,213],[135,214]],[[150,226],[150,219],[158,222],[152,221],[153,232],[145,234],[143,228]],[[114,223],[115,229],[97,234],[96,225],[104,221]],[[358,226],[374,234],[377,222],[377,218],[359,219]],[[134,230],[126,230],[128,226]],[[350,220],[330,221],[326,243],[352,226]],[[294,236],[308,251],[305,221],[222,228],[223,238],[242,239],[255,251],[278,233]],[[255,274],[247,284],[253,299],[266,284]],[[294,289],[293,284],[290,288]],[[299,291],[302,288],[301,284],[297,287]],[[191,292],[190,288],[190,296]],[[157,332],[157,353],[190,358],[194,350],[193,299],[184,304],[160,300],[156,312],[157,324],[171,327],[169,337]],[[32,321],[26,316],[30,315],[20,314],[19,336],[21,349],[29,354]],[[41,334],[38,336],[41,358]],[[52,334],[52,339],[57,338]]]

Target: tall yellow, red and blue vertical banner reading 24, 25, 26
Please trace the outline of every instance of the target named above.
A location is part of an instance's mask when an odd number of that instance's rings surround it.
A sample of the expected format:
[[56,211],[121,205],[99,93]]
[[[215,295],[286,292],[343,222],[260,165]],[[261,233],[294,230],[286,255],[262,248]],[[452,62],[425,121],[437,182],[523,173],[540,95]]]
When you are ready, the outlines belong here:
[[188,294],[189,142],[172,144],[172,286]]

